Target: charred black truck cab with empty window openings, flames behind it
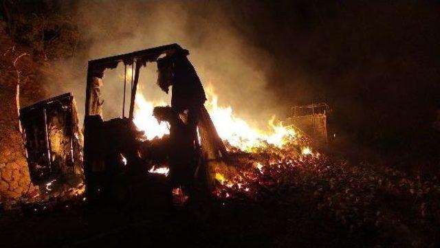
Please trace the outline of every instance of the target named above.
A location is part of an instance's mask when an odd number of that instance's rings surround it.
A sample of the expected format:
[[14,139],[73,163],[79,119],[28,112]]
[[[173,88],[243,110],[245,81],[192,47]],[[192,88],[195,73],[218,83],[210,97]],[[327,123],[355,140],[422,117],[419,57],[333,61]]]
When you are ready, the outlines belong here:
[[[204,188],[212,188],[214,177],[210,165],[228,167],[223,161],[225,146],[203,107],[203,87],[187,55],[187,50],[173,44],[89,61],[84,122],[84,168],[89,199],[100,196],[124,199],[129,192],[121,192],[120,185],[128,181],[126,189],[142,188],[146,171],[170,170],[170,180],[175,181],[175,186],[179,182],[192,187],[189,182],[197,178]],[[140,131],[133,119],[140,69],[153,62],[157,62],[159,87],[168,93],[168,87],[173,85],[173,95],[171,106],[157,106],[153,111],[158,121],[170,125],[169,135],[148,140],[145,131],[151,130]],[[100,91],[104,71],[120,63],[124,66],[122,117],[103,121],[105,104]],[[131,69],[128,71],[127,67]],[[126,80],[127,74],[131,80]]]

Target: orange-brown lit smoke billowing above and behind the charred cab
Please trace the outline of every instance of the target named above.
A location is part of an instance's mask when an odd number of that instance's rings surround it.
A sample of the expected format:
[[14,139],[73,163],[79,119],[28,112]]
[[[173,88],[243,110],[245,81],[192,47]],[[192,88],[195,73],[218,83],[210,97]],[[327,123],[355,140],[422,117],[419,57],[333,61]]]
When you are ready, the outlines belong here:
[[[52,95],[73,92],[82,119],[88,60],[178,43],[190,51],[203,86],[214,89],[220,106],[232,106],[239,117],[263,124],[281,112],[267,91],[272,58],[248,43],[224,10],[215,1],[82,1],[74,13],[83,47],[55,65],[60,81],[48,83],[47,90]],[[122,67],[105,71],[104,118],[122,113]],[[155,71],[155,63],[142,69],[140,91],[147,100],[169,102],[170,96],[155,85]]]

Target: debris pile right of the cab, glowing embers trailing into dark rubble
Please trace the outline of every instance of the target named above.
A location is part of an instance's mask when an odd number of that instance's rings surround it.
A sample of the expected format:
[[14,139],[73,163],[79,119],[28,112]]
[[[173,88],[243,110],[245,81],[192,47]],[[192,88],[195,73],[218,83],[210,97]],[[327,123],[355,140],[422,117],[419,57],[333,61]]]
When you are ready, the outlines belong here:
[[[354,232],[376,229],[389,245],[438,242],[440,175],[410,176],[371,164],[334,161],[309,148],[307,139],[248,151],[228,146],[236,174],[216,174],[213,194],[223,203],[265,201],[294,192],[298,204]],[[228,144],[227,141],[225,141]],[[423,229],[423,232],[419,232]],[[403,237],[403,238],[402,238]]]

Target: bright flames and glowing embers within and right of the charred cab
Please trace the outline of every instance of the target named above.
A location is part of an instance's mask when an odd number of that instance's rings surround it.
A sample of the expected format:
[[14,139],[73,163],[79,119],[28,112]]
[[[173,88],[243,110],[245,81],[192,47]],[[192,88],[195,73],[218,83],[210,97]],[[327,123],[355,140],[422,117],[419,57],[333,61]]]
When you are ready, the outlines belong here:
[[[283,126],[274,116],[267,122],[267,131],[261,131],[236,117],[231,106],[219,106],[212,87],[206,89],[206,96],[206,109],[236,168],[234,174],[215,174],[217,187],[213,194],[219,198],[257,197],[262,186],[275,185],[296,167],[320,159],[311,150],[309,139],[295,126]],[[168,124],[153,117],[154,106],[163,105],[148,102],[137,92],[133,122],[147,139],[169,133]],[[152,168],[149,172],[168,174],[168,168]]]

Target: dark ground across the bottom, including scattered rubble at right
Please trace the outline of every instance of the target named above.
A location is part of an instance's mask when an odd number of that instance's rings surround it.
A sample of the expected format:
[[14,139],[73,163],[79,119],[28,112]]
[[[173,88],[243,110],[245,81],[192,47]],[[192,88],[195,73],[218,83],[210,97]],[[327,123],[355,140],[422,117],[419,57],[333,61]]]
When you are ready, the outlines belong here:
[[[315,161],[316,162],[316,161]],[[310,163],[310,165],[316,163]],[[6,247],[435,247],[437,176],[349,161],[289,171],[258,200],[166,207],[145,192],[135,205],[58,206],[46,214],[0,216]],[[156,192],[157,193],[157,192]],[[7,237],[7,238],[5,238]]]

